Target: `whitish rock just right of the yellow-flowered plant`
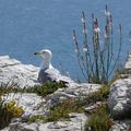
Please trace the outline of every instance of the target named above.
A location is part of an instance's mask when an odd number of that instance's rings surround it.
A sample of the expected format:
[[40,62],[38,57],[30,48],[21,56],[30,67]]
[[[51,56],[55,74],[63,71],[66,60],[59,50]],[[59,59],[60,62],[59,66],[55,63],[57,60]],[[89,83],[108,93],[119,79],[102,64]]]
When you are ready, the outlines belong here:
[[[2,98],[4,103],[8,103],[10,100],[15,100],[16,104],[24,109],[23,116],[29,116],[37,114],[44,114],[43,110],[37,110],[39,104],[44,102],[44,99],[40,96],[37,96],[33,93],[10,93]],[[37,107],[37,108],[36,108]]]

